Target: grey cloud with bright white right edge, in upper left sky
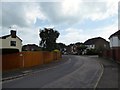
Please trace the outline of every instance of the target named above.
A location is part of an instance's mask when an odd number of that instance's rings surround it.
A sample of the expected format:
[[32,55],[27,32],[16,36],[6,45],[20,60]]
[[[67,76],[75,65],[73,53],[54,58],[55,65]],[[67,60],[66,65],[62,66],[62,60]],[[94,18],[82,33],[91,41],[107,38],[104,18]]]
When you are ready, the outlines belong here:
[[37,16],[41,17],[36,3],[26,2],[3,2],[2,3],[2,26],[17,25],[29,27],[34,25]]

